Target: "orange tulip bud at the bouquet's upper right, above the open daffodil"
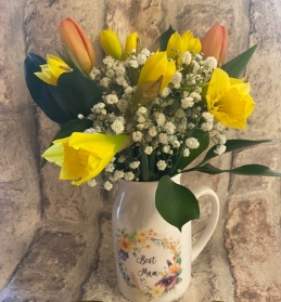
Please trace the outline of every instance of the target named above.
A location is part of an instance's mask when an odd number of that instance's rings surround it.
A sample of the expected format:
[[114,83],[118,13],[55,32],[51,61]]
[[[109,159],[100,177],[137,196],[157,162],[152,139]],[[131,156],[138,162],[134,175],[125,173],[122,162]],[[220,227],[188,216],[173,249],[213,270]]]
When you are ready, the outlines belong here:
[[225,26],[215,24],[201,40],[204,56],[215,56],[219,64],[225,63],[228,31]]

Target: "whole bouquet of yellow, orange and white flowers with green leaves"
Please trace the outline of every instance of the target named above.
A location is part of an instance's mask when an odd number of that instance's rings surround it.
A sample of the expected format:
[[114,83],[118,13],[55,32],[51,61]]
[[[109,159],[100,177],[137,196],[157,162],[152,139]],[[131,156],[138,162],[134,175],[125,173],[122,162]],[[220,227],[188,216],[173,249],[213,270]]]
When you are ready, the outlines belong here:
[[[208,161],[269,140],[227,140],[229,128],[245,129],[255,102],[240,78],[256,45],[225,64],[228,34],[214,25],[203,39],[170,26],[158,50],[142,48],[137,32],[123,48],[117,35],[100,35],[105,57],[95,65],[92,45],[72,18],[60,24],[62,52],[47,61],[30,53],[24,63],[33,100],[61,130],[43,153],[61,167],[60,179],[103,188],[125,181],[158,181],[159,214],[181,229],[200,215],[191,191],[173,182],[200,171],[280,176],[260,165],[220,170]],[[205,154],[205,156],[203,156]],[[203,159],[194,165],[199,156]],[[192,165],[193,163],[193,165]],[[165,197],[165,198],[164,198]]]

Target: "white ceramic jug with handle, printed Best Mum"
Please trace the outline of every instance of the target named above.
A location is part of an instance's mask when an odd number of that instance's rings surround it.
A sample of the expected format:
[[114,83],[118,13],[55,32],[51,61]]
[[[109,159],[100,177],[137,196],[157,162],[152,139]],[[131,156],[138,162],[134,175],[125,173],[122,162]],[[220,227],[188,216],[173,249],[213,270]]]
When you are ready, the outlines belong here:
[[[173,179],[180,183],[180,175]],[[206,228],[191,244],[191,222],[182,232],[168,224],[155,207],[157,182],[119,182],[113,206],[112,226],[118,287],[132,302],[171,302],[188,289],[191,262],[215,231],[219,200],[207,186],[193,191],[208,195],[212,212]]]

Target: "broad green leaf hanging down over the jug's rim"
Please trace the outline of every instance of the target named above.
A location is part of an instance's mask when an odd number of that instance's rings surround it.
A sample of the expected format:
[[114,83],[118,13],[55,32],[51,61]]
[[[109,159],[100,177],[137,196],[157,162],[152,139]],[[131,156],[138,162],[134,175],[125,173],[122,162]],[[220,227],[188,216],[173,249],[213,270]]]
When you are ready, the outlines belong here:
[[189,221],[200,216],[199,201],[193,193],[164,175],[156,189],[156,208],[162,218],[179,231]]

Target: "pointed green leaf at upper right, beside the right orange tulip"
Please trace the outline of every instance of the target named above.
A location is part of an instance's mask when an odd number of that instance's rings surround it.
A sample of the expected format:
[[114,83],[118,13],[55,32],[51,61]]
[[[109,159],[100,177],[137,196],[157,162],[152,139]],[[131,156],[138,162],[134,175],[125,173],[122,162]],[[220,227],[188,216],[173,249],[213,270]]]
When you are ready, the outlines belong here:
[[254,54],[255,50],[257,48],[257,44],[252,47],[251,49],[244,51],[243,53],[239,54],[228,63],[221,66],[221,69],[225,70],[229,77],[231,78],[239,78],[246,67],[250,58]]

